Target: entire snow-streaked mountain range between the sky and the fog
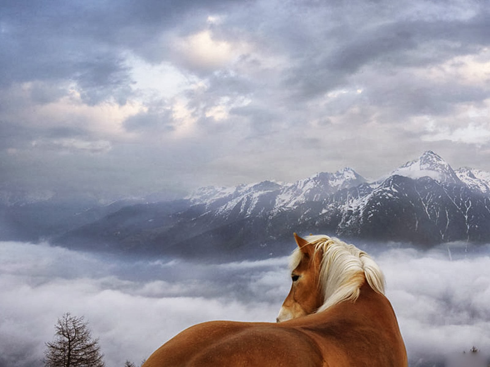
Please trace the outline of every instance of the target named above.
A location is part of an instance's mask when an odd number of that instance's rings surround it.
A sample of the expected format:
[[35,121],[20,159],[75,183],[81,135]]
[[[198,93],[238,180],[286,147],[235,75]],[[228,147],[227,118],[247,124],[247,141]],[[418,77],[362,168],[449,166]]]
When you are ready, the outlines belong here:
[[[119,205],[119,207],[116,207]],[[351,168],[294,183],[203,187],[172,202],[113,204],[65,226],[56,243],[90,250],[185,257],[264,257],[291,250],[293,232],[403,241],[428,248],[490,241],[490,173],[453,170],[424,152],[368,182]]]

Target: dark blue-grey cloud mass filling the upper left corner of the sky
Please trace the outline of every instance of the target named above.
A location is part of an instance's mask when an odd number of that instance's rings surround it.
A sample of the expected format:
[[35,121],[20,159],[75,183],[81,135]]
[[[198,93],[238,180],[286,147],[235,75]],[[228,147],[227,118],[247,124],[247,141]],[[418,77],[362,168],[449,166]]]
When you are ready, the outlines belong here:
[[[96,104],[131,94],[130,70],[121,52],[152,61],[168,55],[161,34],[188,12],[224,7],[222,1],[18,1],[2,4],[0,85],[32,80],[72,80],[83,100]],[[157,47],[155,47],[157,46]],[[48,101],[46,93],[38,101]]]

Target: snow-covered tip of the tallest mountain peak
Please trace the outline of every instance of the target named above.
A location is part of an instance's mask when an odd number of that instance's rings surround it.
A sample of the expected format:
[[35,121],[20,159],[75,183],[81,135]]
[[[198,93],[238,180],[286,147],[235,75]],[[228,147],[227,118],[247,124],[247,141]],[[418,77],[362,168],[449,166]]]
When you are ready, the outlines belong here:
[[460,179],[451,166],[431,150],[424,152],[417,160],[409,161],[398,167],[392,171],[390,176],[392,175],[405,176],[411,179],[428,176],[446,184],[460,183]]

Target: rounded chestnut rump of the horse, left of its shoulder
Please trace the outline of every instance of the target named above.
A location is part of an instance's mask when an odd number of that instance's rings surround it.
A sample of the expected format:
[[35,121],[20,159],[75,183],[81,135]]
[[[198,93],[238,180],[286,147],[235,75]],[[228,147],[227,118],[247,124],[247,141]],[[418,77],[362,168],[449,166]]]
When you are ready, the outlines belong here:
[[157,349],[144,367],[322,367],[318,344],[296,328],[211,321],[192,326]]

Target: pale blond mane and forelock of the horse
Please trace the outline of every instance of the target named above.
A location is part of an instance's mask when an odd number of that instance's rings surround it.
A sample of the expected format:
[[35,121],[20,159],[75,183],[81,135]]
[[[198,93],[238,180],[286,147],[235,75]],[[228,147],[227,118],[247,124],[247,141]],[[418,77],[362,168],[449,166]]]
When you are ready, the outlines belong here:
[[[365,279],[374,291],[384,293],[384,275],[366,252],[323,234],[307,236],[305,240],[315,246],[315,253],[323,253],[319,286],[323,288],[324,301],[317,312],[344,300],[355,301]],[[294,250],[290,262],[292,270],[298,266],[302,257],[303,252],[299,248]]]

